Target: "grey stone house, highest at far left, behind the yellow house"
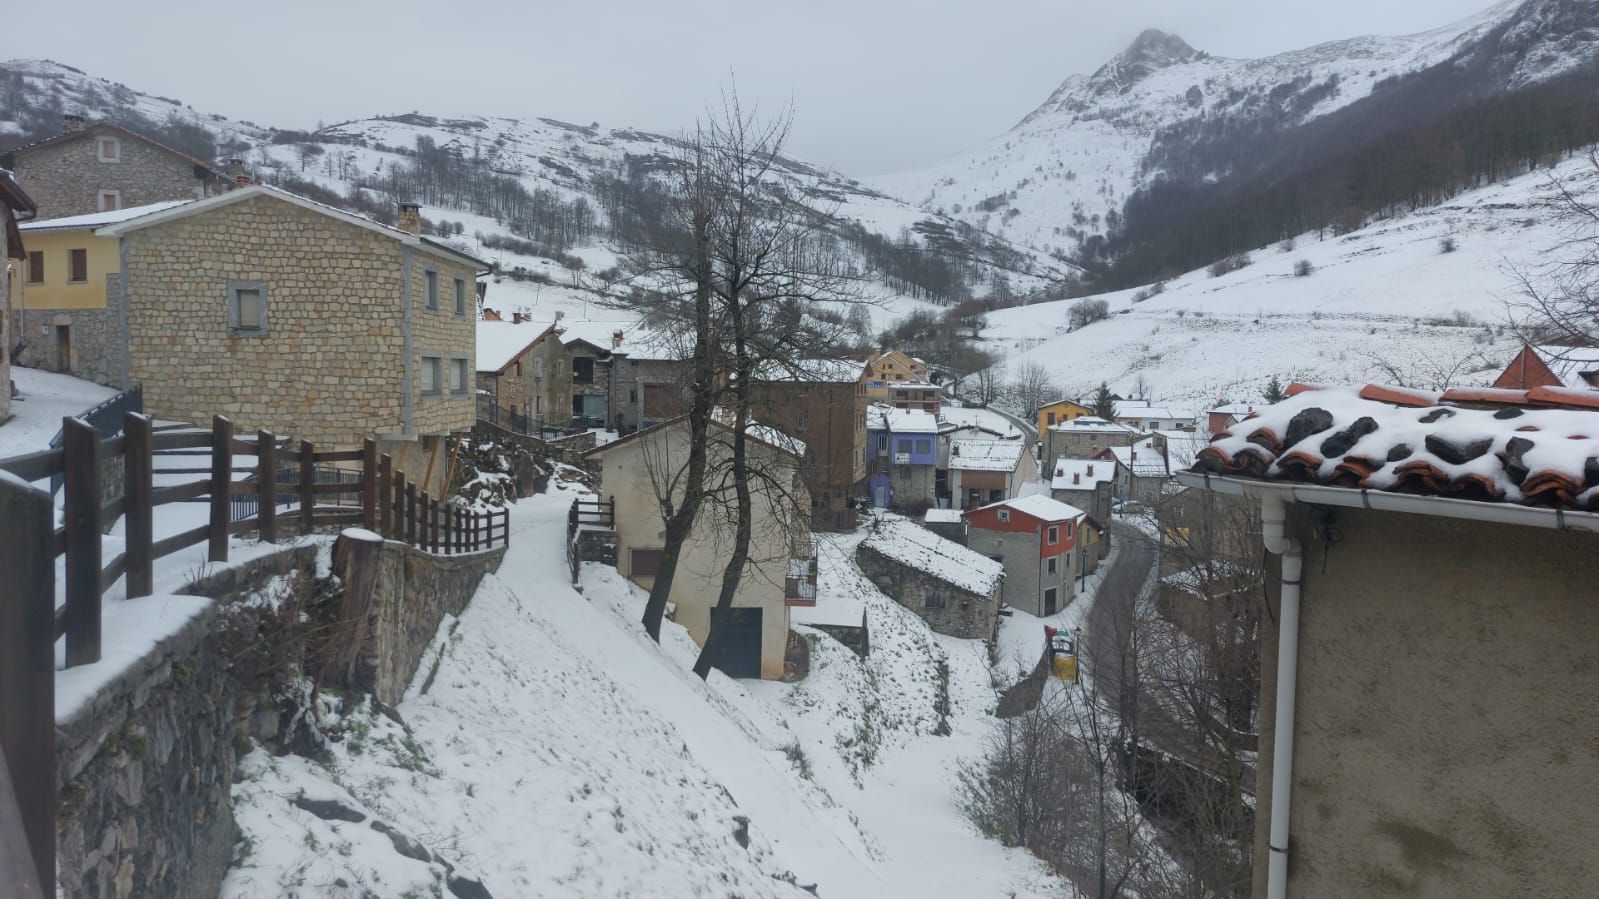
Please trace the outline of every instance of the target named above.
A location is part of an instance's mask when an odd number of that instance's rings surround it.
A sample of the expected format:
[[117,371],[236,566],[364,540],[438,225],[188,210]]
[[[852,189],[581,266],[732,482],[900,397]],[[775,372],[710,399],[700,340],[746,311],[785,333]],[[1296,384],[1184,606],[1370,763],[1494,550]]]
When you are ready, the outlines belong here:
[[48,219],[213,197],[235,179],[110,122],[67,115],[61,134],[0,155]]

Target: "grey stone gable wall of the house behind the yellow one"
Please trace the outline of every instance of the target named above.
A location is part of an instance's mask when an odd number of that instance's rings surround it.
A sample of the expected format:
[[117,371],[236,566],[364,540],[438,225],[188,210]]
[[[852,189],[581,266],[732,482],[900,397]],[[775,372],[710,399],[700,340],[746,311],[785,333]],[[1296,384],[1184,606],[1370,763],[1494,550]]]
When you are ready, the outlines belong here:
[[144,141],[107,133],[122,142],[122,162],[101,162],[94,128],[16,160],[16,179],[38,203],[38,218],[85,216],[99,211],[101,190],[120,190],[122,206],[201,197],[193,163]]

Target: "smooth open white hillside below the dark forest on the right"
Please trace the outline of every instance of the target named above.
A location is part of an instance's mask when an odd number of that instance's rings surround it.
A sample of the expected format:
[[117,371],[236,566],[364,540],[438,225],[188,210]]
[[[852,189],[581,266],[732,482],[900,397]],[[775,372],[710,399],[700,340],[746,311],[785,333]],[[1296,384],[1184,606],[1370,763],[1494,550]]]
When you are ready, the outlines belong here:
[[[1573,182],[1586,165],[1554,174]],[[983,339],[1012,376],[1038,363],[1070,395],[1100,381],[1129,390],[1143,378],[1158,402],[1193,411],[1258,398],[1271,376],[1393,381],[1382,362],[1423,387],[1457,365],[1476,370],[1460,382],[1482,381],[1521,349],[1501,326],[1516,296],[1506,267],[1533,264],[1561,240],[1535,208],[1546,179],[1521,176],[1345,237],[1302,235],[1292,248],[1254,253],[1241,270],[1188,272],[1153,296],[1103,294],[1111,315],[1078,331],[1068,333],[1071,301],[991,312]],[[1302,261],[1308,277],[1295,275]]]

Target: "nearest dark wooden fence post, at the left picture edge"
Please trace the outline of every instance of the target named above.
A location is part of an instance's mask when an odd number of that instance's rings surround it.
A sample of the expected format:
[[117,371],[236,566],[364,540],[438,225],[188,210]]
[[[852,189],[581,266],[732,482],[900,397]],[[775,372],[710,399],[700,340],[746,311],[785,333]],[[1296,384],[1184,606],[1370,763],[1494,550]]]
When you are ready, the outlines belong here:
[[[19,896],[56,894],[54,518],[48,493],[0,478],[0,765],[10,773],[30,856],[13,859],[24,862],[14,869],[16,881],[3,880]],[[14,833],[0,837],[14,841]],[[11,873],[0,865],[0,875]]]

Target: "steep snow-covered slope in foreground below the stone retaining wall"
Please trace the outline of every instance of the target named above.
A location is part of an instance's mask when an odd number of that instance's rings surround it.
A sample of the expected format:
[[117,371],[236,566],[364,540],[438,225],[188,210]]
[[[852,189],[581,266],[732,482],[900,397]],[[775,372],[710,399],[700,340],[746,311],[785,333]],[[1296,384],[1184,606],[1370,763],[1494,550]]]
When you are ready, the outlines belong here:
[[[568,584],[569,501],[556,481],[512,509],[512,549],[440,630],[405,725],[361,704],[325,765],[245,760],[224,897],[435,894],[437,859],[497,897],[1060,894],[956,806],[995,704],[987,648],[878,593],[849,563],[857,536],[822,541],[819,605],[865,611],[868,659],[801,629],[804,681],[700,681],[686,632],[651,643],[643,595],[616,569],[585,565],[584,592]],[[325,821],[296,798],[366,819]]]

